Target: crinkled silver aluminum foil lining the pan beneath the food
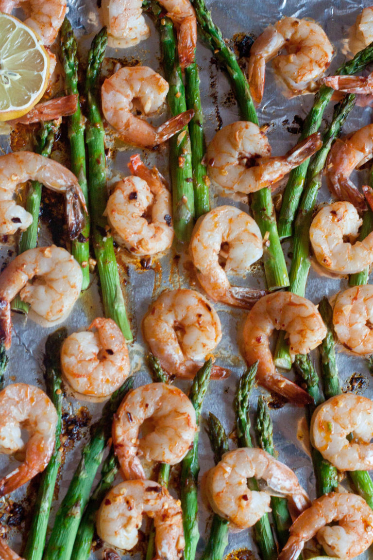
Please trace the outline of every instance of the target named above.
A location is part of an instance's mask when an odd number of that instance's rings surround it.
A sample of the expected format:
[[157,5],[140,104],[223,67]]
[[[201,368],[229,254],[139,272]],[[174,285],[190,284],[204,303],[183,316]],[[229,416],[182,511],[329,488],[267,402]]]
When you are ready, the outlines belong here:
[[[237,34],[257,36],[267,25],[273,24],[282,16],[314,18],[322,25],[336,51],[330,66],[331,72],[346,60],[348,30],[355,23],[356,16],[363,8],[363,4],[353,0],[332,0],[331,2],[330,0],[313,0],[312,2],[305,0],[282,0],[281,2],[278,2],[278,0],[266,0],[265,2],[260,2],[259,0],[241,0],[240,2],[232,0],[207,0],[207,5],[211,9],[214,21],[220,26],[223,35],[228,39],[233,38]],[[369,3],[367,2],[366,5],[369,5]],[[74,0],[70,2],[68,16],[79,38],[79,49],[82,57],[84,57],[93,36],[101,27],[96,1]],[[109,49],[107,56],[120,59],[121,61],[125,58],[128,63],[138,61],[162,73],[160,67],[159,36],[152,22],[148,21],[148,24],[152,29],[150,39],[131,49]],[[207,142],[209,142],[221,125],[238,120],[239,113],[228,78],[215,64],[210,50],[201,42],[199,42],[197,47],[197,60],[200,66],[202,105],[205,115],[204,128]],[[260,124],[270,125],[268,138],[272,145],[273,155],[282,155],[294,146],[299,133],[299,119],[305,118],[312,101],[312,95],[287,99],[287,97],[282,95],[281,89],[275,80],[271,64],[267,65],[265,95],[258,111],[258,116]],[[330,119],[332,110],[333,103],[330,103],[328,110],[325,111],[324,116],[326,119]],[[164,119],[164,115],[160,116],[160,120],[162,119]],[[368,124],[370,120],[371,108],[356,106],[344,126],[344,133],[361,128],[363,125]],[[10,151],[9,137],[3,135],[1,140],[2,150],[4,152]],[[108,143],[110,144],[110,142],[111,139],[108,137]],[[112,144],[110,145],[112,146]],[[126,147],[118,146],[117,144],[115,148],[114,152],[112,152],[112,160],[110,161],[109,185],[113,184],[121,176],[128,174],[127,163],[129,162],[129,157],[133,153],[139,152],[137,149],[128,150]],[[148,165],[157,165],[158,169],[168,176],[166,146],[155,151],[143,151],[142,155]],[[362,184],[366,180],[366,173],[367,171],[356,172],[352,179],[356,180],[358,184]],[[213,188],[211,194],[213,206],[234,204],[245,211],[249,211],[248,206],[244,203],[232,202],[231,199],[218,197],[215,195]],[[329,200],[328,190],[323,185],[319,194],[319,202]],[[50,241],[50,234],[43,227],[40,244],[48,244]],[[291,246],[286,243],[284,248],[287,255],[291,250]],[[16,248],[6,246],[2,249],[1,263],[7,262],[15,254],[12,253],[11,249]],[[190,272],[190,259],[186,254],[186,248],[183,248],[180,244],[176,244],[162,258],[153,259],[152,267],[149,270],[142,270],[138,263],[130,260],[124,253],[121,253],[120,259],[126,265],[126,269],[128,269],[126,292],[128,294],[131,323],[135,337],[135,342],[130,348],[130,357],[132,371],[135,375],[135,385],[138,386],[150,381],[144,362],[147,347],[141,334],[141,320],[150,302],[167,288],[189,286],[200,290],[200,287],[196,284],[193,274]],[[235,282],[258,287],[264,286],[263,278],[262,267],[256,267],[248,277],[235,278]],[[332,296],[346,287],[346,279],[321,277],[311,268],[306,297],[317,303],[325,294]],[[205,417],[208,412],[213,412],[223,422],[226,432],[232,433],[234,429],[232,402],[235,386],[238,377],[245,369],[237,343],[237,335],[240,332],[245,312],[220,304],[216,304],[215,307],[223,326],[223,340],[215,352],[216,363],[229,367],[232,370],[232,376],[224,381],[211,381],[206,395],[201,418],[199,447],[201,479],[206,470],[213,465],[213,454],[205,432]],[[98,295],[97,281],[96,277],[92,275],[91,287],[79,299],[72,314],[65,321],[65,325],[68,328],[68,332],[72,333],[74,330],[83,329],[93,318],[101,314],[102,308]],[[46,337],[51,330],[53,329],[41,328],[31,320],[25,320],[20,315],[13,315],[13,343],[9,352],[10,365],[7,371],[7,382],[26,381],[41,387],[44,386],[43,353]],[[317,353],[315,353],[315,360],[318,361]],[[361,391],[364,395],[370,396],[370,398],[373,397],[371,377],[363,358],[352,357],[341,350],[338,352],[337,363],[343,388]],[[351,377],[353,377],[352,382]],[[178,381],[176,381],[176,384],[185,390],[188,388],[187,384],[182,384]],[[267,395],[260,388],[253,390],[251,396],[253,413],[256,410],[259,394]],[[67,389],[64,412],[74,416],[79,410],[82,412],[82,405],[87,407],[92,422],[100,416],[102,405],[79,402]],[[310,497],[314,498],[315,478],[306,443],[306,432],[304,431],[304,409],[286,404],[282,408],[273,408],[271,416],[274,426],[277,458],[294,469],[301,484],[308,490]],[[87,432],[88,425],[80,431],[81,440],[75,442],[72,449],[67,452],[59,478],[58,498],[53,503],[51,525],[53,524],[54,512],[68,488],[69,480],[80,458]],[[234,438],[231,438],[232,448],[234,445]],[[0,456],[0,476],[10,472],[16,465],[17,461],[9,459],[7,456]],[[33,489],[35,489],[35,486],[29,492],[27,492],[27,489],[22,488],[13,493],[10,498],[1,501],[1,510],[6,512],[5,520],[13,519],[14,521],[15,511],[18,511],[18,506],[24,507],[25,510],[31,508],[32,511]],[[206,507],[202,497],[200,497],[199,506],[201,539],[197,549],[197,557],[200,556],[205,548],[211,520],[211,511]],[[18,526],[17,529],[10,528],[8,540],[13,548],[20,552],[22,549],[22,539],[24,540],[26,536],[26,524],[21,519],[21,523],[13,522],[13,525]],[[252,550],[254,555],[258,556],[251,531],[244,530],[240,533],[230,533],[226,554],[240,548]],[[92,553],[92,558],[102,558],[102,550],[102,548],[98,548],[95,553]],[[366,553],[365,556],[368,557],[369,554]],[[123,556],[128,556],[128,554]]]

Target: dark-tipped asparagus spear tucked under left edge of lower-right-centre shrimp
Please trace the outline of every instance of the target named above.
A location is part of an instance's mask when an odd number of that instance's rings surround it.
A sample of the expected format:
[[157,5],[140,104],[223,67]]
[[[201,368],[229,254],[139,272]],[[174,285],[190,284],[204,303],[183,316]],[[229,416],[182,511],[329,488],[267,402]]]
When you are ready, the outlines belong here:
[[[223,426],[214,414],[210,412],[207,419],[210,444],[214,452],[215,464],[218,464],[224,453],[229,451],[228,437]],[[228,545],[228,521],[214,514],[210,536],[201,560],[222,560],[224,550]]]

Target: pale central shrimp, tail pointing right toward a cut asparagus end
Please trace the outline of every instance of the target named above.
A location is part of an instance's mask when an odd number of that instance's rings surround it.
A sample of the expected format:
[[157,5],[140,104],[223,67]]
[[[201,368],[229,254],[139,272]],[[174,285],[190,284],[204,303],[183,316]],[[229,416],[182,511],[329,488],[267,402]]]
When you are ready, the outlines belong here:
[[[265,295],[263,291],[231,286],[227,277],[229,273],[247,272],[263,254],[261,232],[247,213],[234,206],[211,210],[197,221],[190,251],[197,278],[213,300],[250,308]],[[221,253],[225,259],[224,268],[219,263]]]

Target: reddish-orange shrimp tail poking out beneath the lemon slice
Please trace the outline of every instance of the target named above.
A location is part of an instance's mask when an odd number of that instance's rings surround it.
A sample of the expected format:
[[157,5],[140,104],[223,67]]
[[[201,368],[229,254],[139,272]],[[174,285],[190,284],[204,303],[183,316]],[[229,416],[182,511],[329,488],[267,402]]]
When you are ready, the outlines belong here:
[[78,94],[57,97],[43,103],[38,103],[18,119],[8,120],[8,124],[31,124],[40,121],[55,120],[61,116],[69,116],[77,110]]

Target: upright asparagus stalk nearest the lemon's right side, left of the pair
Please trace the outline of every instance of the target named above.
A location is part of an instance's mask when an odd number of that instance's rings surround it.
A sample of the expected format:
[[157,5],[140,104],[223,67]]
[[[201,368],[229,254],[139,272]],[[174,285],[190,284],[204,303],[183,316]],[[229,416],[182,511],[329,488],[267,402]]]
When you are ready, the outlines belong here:
[[[65,86],[69,95],[79,94],[78,92],[78,57],[77,41],[74,31],[67,17],[65,17],[61,32],[61,51],[62,63],[65,71]],[[84,199],[88,208],[88,186],[86,175],[86,146],[84,144],[84,122],[79,105],[77,110],[68,118],[68,136],[70,141],[70,165],[74,175],[77,176],[81,185]],[[82,290],[87,290],[89,285],[89,220],[86,216],[86,225],[79,234],[78,239],[73,241],[73,256],[81,265],[83,273]]]

